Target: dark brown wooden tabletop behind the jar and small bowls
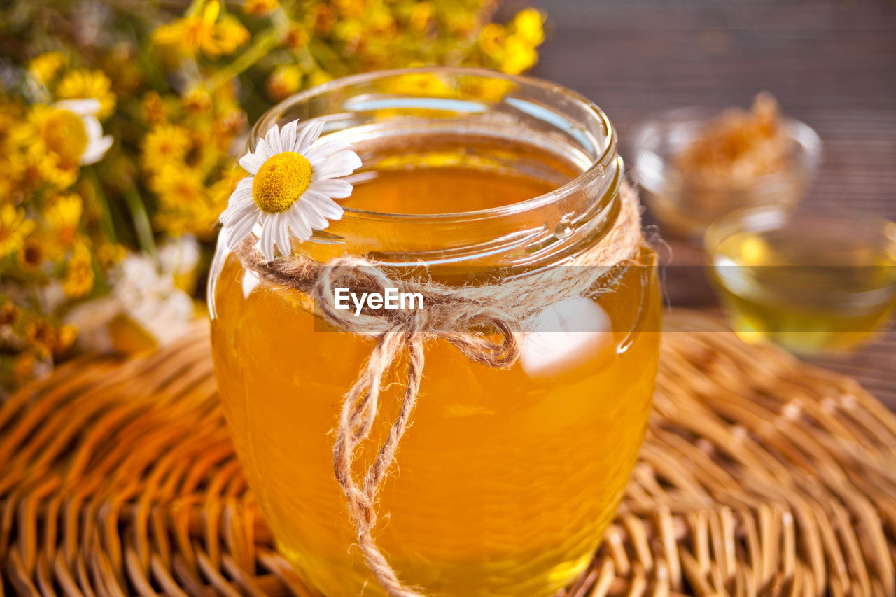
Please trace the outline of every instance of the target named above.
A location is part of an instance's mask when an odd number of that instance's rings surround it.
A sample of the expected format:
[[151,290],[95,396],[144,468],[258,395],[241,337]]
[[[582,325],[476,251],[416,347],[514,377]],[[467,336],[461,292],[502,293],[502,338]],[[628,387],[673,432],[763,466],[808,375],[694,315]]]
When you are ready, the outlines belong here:
[[[534,74],[594,99],[626,134],[667,108],[746,107],[771,91],[822,136],[805,201],[896,219],[896,2],[891,0],[535,0],[549,38]],[[702,264],[667,238],[671,264]],[[700,276],[673,281],[675,305],[714,308]],[[823,364],[896,409],[896,332]]]

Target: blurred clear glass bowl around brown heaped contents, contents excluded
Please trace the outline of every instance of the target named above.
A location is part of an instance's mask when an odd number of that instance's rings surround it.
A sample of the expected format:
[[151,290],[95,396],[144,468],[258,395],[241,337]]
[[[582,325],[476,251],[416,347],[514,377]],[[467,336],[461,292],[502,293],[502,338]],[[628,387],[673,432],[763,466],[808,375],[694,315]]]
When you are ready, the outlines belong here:
[[818,169],[822,155],[818,134],[802,122],[781,117],[784,133],[793,141],[787,169],[738,186],[688,179],[677,168],[676,156],[716,117],[718,110],[677,108],[646,119],[633,131],[634,170],[642,199],[665,233],[700,238],[713,221],[739,208],[795,205]]

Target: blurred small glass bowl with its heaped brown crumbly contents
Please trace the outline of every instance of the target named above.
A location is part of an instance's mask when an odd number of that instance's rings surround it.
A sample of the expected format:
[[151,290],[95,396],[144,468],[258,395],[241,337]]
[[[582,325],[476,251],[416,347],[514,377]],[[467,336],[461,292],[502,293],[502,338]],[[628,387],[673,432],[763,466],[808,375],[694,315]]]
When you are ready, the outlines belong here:
[[642,198],[663,233],[698,239],[737,209],[796,205],[822,151],[818,134],[781,116],[767,93],[750,110],[670,110],[638,125],[632,139]]

